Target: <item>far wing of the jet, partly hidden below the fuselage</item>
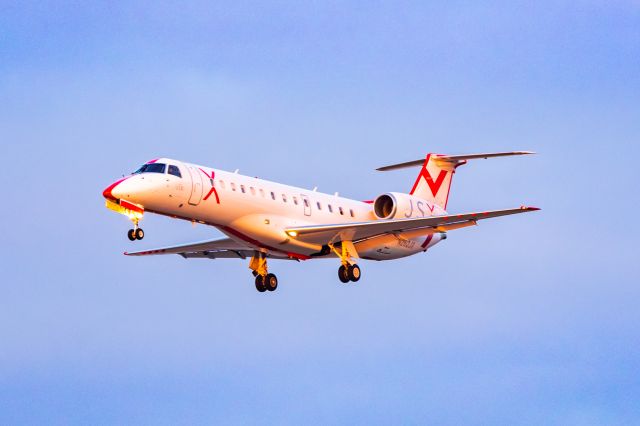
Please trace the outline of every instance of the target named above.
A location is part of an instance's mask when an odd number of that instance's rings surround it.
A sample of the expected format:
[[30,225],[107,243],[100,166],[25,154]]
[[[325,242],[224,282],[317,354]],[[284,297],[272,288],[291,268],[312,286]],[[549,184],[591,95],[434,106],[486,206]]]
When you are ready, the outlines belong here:
[[[246,259],[253,256],[255,250],[231,238],[200,241],[197,243],[177,246],[161,247],[128,253],[127,256],[150,256],[157,254],[179,254],[185,259]],[[268,253],[267,257],[288,259],[286,255],[280,257],[277,253]]]

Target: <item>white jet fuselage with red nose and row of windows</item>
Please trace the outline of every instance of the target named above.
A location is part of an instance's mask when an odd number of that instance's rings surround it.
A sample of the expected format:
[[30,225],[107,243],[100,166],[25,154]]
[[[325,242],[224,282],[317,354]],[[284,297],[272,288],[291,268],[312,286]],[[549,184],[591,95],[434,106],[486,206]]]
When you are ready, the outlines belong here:
[[[371,202],[167,158],[154,163],[175,166],[181,176],[166,171],[133,174],[107,188],[105,197],[134,203],[147,212],[212,225],[256,250],[297,259],[334,255],[322,244],[290,238],[284,231],[286,228],[379,220]],[[424,200],[415,203],[411,200],[408,207],[396,214],[409,218],[446,212]],[[441,233],[420,230],[354,243],[359,257],[388,260],[423,252],[442,239]]]

